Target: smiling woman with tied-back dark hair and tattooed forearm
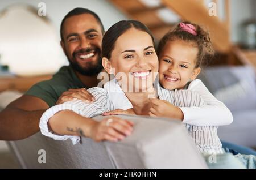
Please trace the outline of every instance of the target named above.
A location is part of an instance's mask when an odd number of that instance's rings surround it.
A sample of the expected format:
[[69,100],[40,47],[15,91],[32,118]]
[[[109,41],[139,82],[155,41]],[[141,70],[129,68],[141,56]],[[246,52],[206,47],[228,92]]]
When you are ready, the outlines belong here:
[[[116,78],[122,76],[122,89],[132,89],[132,92],[124,92],[135,113],[145,115],[150,109],[148,96],[155,95],[153,83],[158,72],[158,57],[151,32],[135,20],[114,24],[102,40],[102,57],[107,72],[114,73]],[[114,110],[114,106],[105,89],[96,87],[88,91],[96,98],[92,104],[77,100],[48,109],[40,120],[42,134],[56,140],[70,138],[73,144],[79,142],[79,136],[96,141],[117,141],[130,135],[133,131],[130,121],[112,117],[97,122],[90,118]]]

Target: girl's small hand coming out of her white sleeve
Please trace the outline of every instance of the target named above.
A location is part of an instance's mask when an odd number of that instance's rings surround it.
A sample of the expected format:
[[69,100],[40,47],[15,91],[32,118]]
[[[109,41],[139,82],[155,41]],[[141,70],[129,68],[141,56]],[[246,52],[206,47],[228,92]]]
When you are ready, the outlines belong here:
[[172,105],[170,102],[165,100],[159,100],[157,98],[152,98],[151,108],[148,113],[152,117],[167,117],[175,118],[183,121],[184,115],[179,107]]

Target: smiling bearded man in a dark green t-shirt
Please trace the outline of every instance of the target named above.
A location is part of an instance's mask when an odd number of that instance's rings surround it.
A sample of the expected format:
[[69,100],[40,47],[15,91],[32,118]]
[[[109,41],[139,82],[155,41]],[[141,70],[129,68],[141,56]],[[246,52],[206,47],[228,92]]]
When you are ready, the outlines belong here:
[[75,8],[60,26],[61,47],[70,63],[51,80],[35,84],[0,112],[0,140],[19,140],[39,131],[39,120],[49,107],[79,98],[94,101],[83,88],[96,87],[101,65],[104,27],[100,18],[85,8]]

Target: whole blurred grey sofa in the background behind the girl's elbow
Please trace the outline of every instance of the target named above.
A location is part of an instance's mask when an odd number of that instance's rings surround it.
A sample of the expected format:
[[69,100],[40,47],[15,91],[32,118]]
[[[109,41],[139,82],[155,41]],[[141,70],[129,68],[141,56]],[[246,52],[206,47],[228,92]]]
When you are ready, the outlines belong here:
[[250,66],[205,68],[199,77],[233,114],[233,123],[218,128],[221,140],[256,148],[256,81]]

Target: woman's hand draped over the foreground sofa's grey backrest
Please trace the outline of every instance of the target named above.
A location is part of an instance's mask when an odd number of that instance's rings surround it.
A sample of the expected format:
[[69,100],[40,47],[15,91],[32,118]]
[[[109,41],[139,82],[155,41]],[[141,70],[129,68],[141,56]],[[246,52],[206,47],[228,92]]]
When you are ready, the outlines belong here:
[[102,140],[117,142],[131,134],[133,125],[133,122],[118,117],[105,118],[100,122],[95,121],[90,126],[88,137],[96,142]]

